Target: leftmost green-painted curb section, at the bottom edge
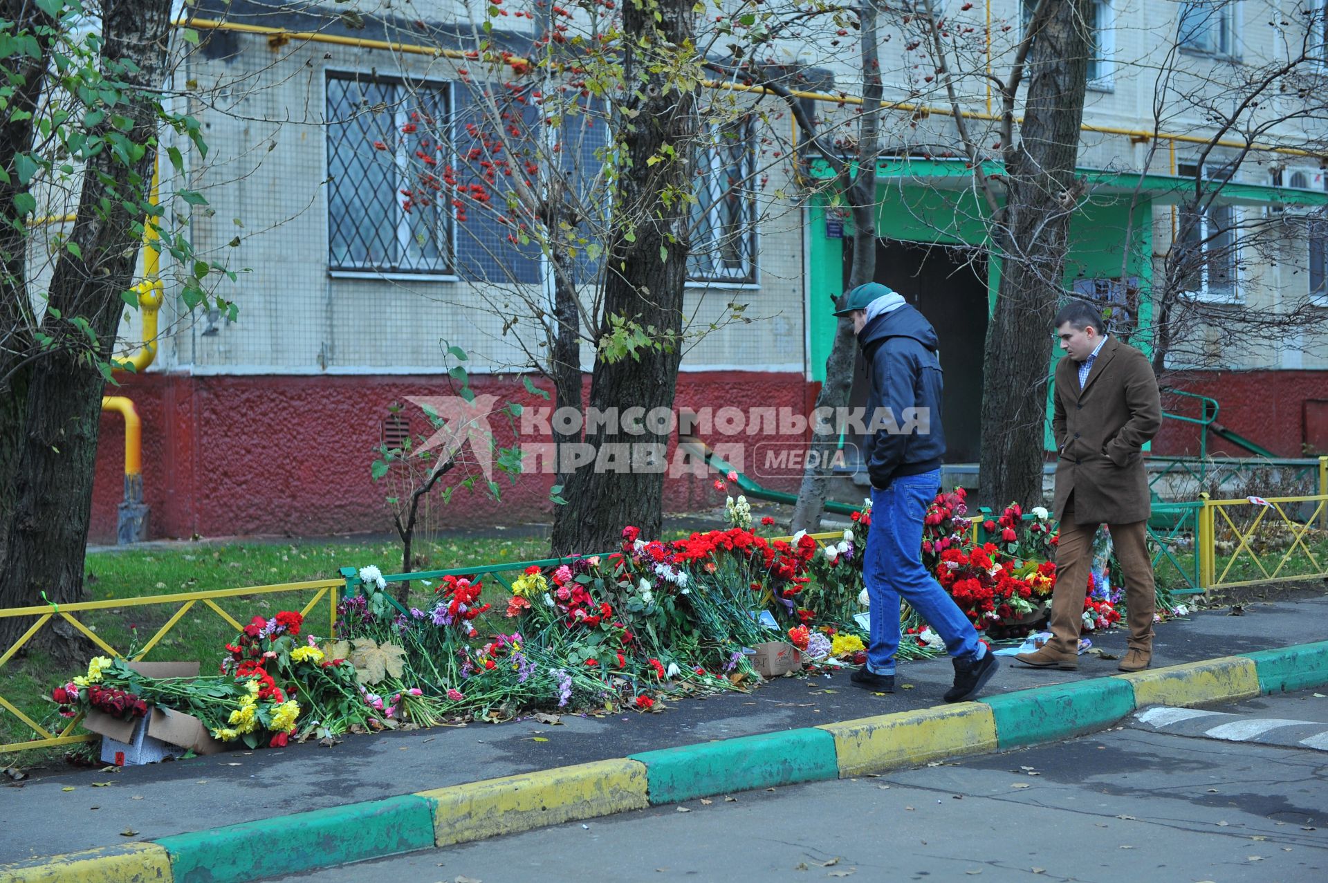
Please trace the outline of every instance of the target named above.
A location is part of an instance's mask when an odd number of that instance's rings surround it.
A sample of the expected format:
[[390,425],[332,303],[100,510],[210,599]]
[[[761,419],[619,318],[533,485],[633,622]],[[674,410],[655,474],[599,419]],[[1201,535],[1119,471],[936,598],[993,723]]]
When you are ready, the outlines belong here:
[[235,883],[433,848],[433,802],[414,794],[157,841],[174,883]]

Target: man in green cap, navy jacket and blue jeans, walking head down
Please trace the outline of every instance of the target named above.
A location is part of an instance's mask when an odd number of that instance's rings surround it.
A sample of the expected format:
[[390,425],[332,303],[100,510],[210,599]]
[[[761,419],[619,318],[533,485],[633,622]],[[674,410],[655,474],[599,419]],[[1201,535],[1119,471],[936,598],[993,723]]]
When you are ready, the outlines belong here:
[[903,297],[876,283],[849,291],[835,316],[853,320],[858,345],[871,366],[871,527],[863,559],[871,644],[867,664],[853,673],[853,682],[894,692],[903,599],[940,635],[954,657],[955,684],[946,701],[967,701],[991,680],[999,663],[922,563],[923,517],[940,490],[940,459],[946,454],[936,332]]

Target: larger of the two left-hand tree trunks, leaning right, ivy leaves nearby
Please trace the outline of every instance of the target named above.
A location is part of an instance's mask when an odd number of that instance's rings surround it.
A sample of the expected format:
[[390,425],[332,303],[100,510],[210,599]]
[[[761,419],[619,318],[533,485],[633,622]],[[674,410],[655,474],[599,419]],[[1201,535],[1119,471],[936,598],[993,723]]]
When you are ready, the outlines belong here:
[[[129,138],[146,150],[131,166],[117,162],[110,150],[88,161],[77,220],[70,239],[82,258],[65,252],[50,281],[49,307],[64,320],[88,321],[96,335],[94,357],[109,360],[114,349],[124,301],[133,283],[139,235],[138,208],[125,199],[98,207],[108,191],[100,177],[113,181],[121,194],[146,197],[155,159],[157,113],[147,90],[165,77],[170,29],[169,0],[108,0],[102,4],[104,64],[133,60],[125,72],[129,86],[120,112],[133,121]],[[108,123],[102,123],[108,127]],[[104,134],[104,133],[97,133]],[[131,203],[134,201],[130,201]],[[53,337],[69,332],[48,308],[42,329]],[[84,554],[92,511],[93,467],[101,424],[105,380],[89,364],[89,353],[73,343],[33,362],[27,418],[20,437],[13,482],[13,510],[7,530],[5,579],[0,607],[40,604],[45,599],[69,603],[82,595]],[[25,628],[17,619],[0,620],[0,644],[8,645]],[[57,652],[68,644],[45,643]],[[41,637],[41,636],[39,636]]]

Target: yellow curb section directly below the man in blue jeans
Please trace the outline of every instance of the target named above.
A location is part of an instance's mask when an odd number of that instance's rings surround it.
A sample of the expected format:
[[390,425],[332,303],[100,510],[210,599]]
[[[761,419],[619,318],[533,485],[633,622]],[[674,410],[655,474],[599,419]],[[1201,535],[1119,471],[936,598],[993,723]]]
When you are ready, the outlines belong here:
[[834,736],[839,778],[996,750],[996,717],[983,702],[863,717],[817,729]]

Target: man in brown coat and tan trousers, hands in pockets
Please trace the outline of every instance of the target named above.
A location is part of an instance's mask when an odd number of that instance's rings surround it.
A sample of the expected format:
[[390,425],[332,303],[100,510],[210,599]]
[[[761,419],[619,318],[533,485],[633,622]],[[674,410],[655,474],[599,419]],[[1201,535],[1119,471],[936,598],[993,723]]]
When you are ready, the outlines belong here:
[[1102,333],[1102,316],[1084,301],[1056,315],[1069,359],[1056,365],[1052,432],[1056,436],[1056,588],[1052,639],[1015,659],[1036,668],[1078,668],[1078,636],[1093,563],[1093,538],[1108,524],[1121,560],[1130,648],[1122,672],[1153,657],[1153,560],[1147,550],[1149,479],[1141,449],[1162,424],[1153,365],[1138,349]]

